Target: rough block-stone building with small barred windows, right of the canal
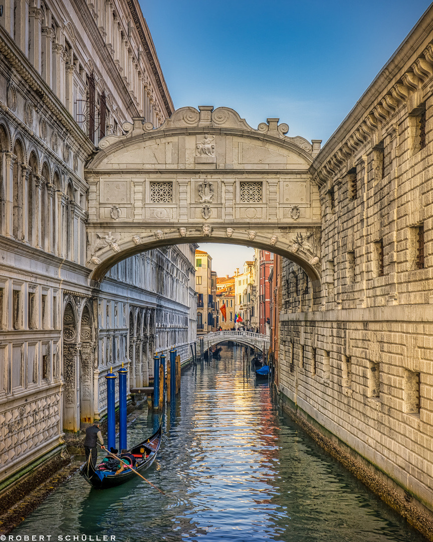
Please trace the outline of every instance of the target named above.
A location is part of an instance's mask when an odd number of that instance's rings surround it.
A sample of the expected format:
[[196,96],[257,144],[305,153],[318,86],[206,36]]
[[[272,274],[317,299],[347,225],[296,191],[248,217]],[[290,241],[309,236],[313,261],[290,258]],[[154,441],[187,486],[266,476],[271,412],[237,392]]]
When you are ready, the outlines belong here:
[[313,160],[322,293],[285,260],[280,314],[288,405],[388,475],[408,514],[433,511],[432,36],[430,7]]

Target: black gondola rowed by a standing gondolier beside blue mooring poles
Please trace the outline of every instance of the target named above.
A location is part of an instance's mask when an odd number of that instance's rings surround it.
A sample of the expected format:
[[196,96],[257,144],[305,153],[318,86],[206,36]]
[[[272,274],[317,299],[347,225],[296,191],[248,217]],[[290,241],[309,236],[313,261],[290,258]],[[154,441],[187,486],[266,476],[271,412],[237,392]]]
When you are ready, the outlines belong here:
[[[137,472],[141,473],[148,469],[155,461],[156,454],[161,445],[161,434],[162,428],[160,425],[158,431],[151,437],[128,450],[137,461],[134,467]],[[99,467],[95,469],[91,464],[91,461],[85,463],[81,467],[80,474],[83,476],[84,480],[89,482],[95,489],[109,489],[110,487],[120,486],[122,483],[128,482],[132,478],[139,478],[133,470],[126,468],[126,466],[123,472],[115,474],[110,470],[99,470]]]

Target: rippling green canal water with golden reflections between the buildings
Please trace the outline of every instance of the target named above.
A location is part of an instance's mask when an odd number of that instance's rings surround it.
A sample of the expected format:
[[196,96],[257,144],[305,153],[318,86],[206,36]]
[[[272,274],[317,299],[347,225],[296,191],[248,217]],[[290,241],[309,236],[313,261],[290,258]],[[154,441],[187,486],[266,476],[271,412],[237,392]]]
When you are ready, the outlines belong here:
[[[143,410],[128,442],[156,423]],[[182,370],[181,398],[163,423],[159,456],[143,474],[167,496],[138,477],[99,492],[76,474],[14,539],[425,541],[281,413],[267,382],[255,383],[244,368],[241,347]]]

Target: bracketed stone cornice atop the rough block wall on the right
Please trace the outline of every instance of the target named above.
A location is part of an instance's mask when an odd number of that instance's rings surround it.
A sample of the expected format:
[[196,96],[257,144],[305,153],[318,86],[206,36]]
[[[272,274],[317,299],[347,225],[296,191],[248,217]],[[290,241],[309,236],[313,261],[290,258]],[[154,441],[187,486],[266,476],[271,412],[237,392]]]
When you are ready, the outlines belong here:
[[373,140],[374,145],[395,134],[399,113],[411,113],[431,96],[433,42],[428,40],[432,34],[430,7],[314,158],[310,172],[319,188],[330,188],[333,178],[368,141]]

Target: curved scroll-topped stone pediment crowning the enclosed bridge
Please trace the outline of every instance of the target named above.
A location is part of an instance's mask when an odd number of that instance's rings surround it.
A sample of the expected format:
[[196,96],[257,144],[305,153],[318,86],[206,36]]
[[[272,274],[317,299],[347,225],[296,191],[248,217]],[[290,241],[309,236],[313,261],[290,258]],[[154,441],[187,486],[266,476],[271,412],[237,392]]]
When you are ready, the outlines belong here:
[[124,135],[107,135],[88,170],[123,169],[306,169],[312,144],[287,137],[287,124],[267,119],[255,130],[228,107],[182,107],[155,128],[143,119],[125,122]]

